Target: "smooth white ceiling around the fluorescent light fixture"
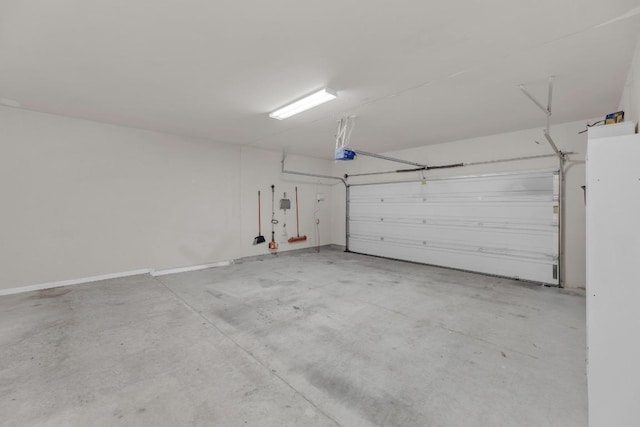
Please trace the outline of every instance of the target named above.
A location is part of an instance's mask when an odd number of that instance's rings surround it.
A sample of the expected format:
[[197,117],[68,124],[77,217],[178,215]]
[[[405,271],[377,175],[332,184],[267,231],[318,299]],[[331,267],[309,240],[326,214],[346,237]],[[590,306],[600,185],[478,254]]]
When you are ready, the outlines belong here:
[[[0,98],[22,108],[331,158],[618,107],[640,0],[0,0]],[[616,19],[621,18],[621,19]],[[613,21],[613,22],[609,22]],[[604,25],[602,25],[604,24]],[[268,113],[328,86],[339,98]]]

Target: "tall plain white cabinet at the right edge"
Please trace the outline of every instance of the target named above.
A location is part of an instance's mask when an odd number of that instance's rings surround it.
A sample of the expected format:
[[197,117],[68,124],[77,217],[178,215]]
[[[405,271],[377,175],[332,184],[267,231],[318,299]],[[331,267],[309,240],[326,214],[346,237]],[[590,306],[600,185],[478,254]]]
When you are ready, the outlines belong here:
[[589,425],[640,425],[640,135],[587,149]]

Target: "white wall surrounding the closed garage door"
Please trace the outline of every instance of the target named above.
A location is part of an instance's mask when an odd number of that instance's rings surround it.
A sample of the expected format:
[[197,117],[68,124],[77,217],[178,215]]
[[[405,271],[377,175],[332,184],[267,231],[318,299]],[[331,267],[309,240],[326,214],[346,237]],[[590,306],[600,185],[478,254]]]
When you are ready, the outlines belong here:
[[[543,118],[541,118],[543,121]],[[563,151],[575,152],[570,156],[575,162],[567,165],[566,180],[566,246],[565,246],[565,271],[564,284],[566,287],[585,286],[585,206],[583,191],[584,185],[584,153],[586,152],[586,133],[578,134],[585,128],[587,120],[552,126],[551,135],[558,148]],[[463,125],[463,124],[461,124]],[[353,146],[358,147],[356,134],[353,135]],[[535,141],[538,141],[537,144]],[[366,147],[362,147],[366,150]],[[428,165],[443,165],[451,163],[468,163],[486,160],[505,159],[539,154],[553,154],[546,142],[543,129],[529,129],[486,137],[472,138],[444,144],[429,145],[419,148],[383,153],[392,157],[406,159]],[[517,161],[510,163],[496,163],[482,166],[469,166],[463,168],[434,170],[426,173],[430,176],[470,175],[492,172],[505,172],[514,170],[533,170],[557,168],[557,158]],[[370,171],[395,170],[411,168],[399,163],[372,159],[360,156],[355,161],[337,162],[334,166],[334,174],[355,174]],[[349,182],[361,183],[372,181],[392,181],[418,179],[417,172],[403,174],[378,175],[374,177],[349,178]],[[333,223],[333,242],[345,244],[344,223],[344,191],[335,189]]]

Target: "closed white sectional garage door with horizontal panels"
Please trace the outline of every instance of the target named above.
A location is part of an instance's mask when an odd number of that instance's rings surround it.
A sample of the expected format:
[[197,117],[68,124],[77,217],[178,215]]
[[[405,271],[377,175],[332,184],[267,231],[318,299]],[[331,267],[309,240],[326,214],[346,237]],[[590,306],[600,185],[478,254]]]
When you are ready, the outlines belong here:
[[558,175],[349,186],[351,252],[558,284]]

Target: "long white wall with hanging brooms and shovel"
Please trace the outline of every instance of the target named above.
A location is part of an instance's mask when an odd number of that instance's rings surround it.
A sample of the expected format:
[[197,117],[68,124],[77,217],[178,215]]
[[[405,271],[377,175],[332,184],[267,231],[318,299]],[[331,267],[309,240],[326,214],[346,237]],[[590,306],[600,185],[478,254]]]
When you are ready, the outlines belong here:
[[[317,242],[316,184],[281,176],[280,153],[7,107],[0,152],[0,290],[268,253],[252,242],[257,190],[267,196],[271,184],[293,201],[296,182],[305,182],[301,232],[309,239],[280,250]],[[294,160],[307,170],[331,167]],[[319,207],[323,244],[330,203]]]

